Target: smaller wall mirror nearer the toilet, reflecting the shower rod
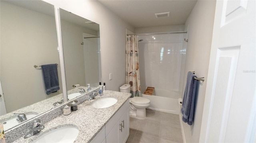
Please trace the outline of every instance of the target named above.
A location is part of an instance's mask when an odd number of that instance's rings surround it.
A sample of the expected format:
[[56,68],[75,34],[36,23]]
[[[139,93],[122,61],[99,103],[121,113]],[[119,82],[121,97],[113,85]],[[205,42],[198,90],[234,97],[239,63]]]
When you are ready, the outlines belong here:
[[100,64],[100,25],[60,9],[66,85],[69,95],[76,87],[77,92],[88,85],[91,89],[99,86],[101,80]]

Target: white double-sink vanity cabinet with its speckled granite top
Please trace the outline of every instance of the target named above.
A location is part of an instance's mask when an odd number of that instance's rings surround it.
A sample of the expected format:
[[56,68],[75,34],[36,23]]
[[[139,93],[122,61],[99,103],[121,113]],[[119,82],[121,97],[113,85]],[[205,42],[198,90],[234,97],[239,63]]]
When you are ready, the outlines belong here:
[[[94,100],[82,102],[78,105],[78,110],[68,116],[61,115],[44,123],[45,128],[38,135],[28,139],[24,139],[22,136],[13,143],[33,143],[45,133],[66,126],[73,126],[79,130],[74,143],[125,143],[129,136],[130,95],[129,93],[105,90],[103,96],[96,96]],[[106,97],[116,98],[116,104],[107,108],[92,106],[98,99]]]

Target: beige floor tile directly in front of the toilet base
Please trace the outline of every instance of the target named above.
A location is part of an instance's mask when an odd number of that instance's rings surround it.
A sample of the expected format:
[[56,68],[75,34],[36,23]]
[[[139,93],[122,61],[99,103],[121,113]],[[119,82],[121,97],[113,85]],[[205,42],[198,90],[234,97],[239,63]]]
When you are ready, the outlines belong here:
[[153,137],[159,137],[160,123],[142,120],[138,127],[137,133],[143,133],[151,135]]

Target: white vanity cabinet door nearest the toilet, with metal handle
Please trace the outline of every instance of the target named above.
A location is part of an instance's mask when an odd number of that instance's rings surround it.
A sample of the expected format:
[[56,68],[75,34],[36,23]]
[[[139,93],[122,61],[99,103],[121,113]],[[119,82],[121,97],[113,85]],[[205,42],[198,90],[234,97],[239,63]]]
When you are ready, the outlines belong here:
[[129,110],[127,108],[122,117],[118,121],[118,135],[119,135],[119,143],[125,143],[129,136],[130,131],[130,118],[129,118]]

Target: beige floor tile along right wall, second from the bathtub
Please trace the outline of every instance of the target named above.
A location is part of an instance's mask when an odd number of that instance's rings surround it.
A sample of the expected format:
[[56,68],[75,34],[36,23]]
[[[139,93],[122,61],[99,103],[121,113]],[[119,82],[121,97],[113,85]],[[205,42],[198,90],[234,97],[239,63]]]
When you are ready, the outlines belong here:
[[183,143],[181,128],[161,125],[159,138]]

